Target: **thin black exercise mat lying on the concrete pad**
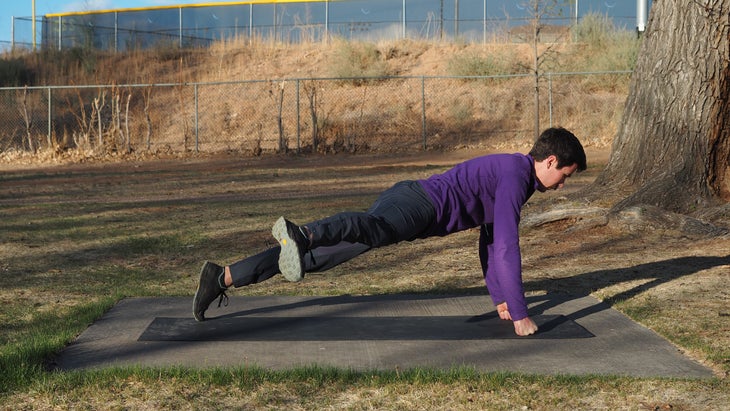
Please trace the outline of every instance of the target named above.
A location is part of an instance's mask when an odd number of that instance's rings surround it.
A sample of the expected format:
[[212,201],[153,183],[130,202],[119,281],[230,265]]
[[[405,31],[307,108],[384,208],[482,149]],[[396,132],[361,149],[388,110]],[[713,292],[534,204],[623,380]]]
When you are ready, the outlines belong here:
[[423,317],[156,317],[138,341],[375,341],[590,338],[563,315],[531,317],[536,334],[518,337],[511,321],[494,315]]

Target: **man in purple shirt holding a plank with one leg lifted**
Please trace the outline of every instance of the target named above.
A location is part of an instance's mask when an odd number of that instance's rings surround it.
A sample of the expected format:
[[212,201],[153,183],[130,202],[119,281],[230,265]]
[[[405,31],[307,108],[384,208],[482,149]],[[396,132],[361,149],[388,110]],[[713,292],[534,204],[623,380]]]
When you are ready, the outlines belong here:
[[545,130],[528,155],[477,157],[425,180],[402,181],[383,192],[366,212],[343,212],[297,226],[282,218],[272,234],[279,247],[221,267],[206,262],[193,299],[203,321],[225,290],[264,281],[281,272],[290,281],[325,271],[372,248],[481,226],[479,257],[499,317],[520,336],[537,331],[527,315],[522,288],[518,225],[522,206],[535,190],[561,188],[586,169],[580,141],[564,128]]

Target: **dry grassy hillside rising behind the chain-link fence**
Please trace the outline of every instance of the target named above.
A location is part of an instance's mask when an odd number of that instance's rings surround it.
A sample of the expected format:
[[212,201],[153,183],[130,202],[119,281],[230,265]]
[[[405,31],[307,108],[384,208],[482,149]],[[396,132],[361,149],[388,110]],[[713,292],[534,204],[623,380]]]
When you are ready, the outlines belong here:
[[[638,41],[611,30],[589,30],[580,38],[538,45],[540,127],[565,126],[587,145],[606,147],[629,83],[628,74],[610,72],[632,69]],[[22,78],[36,86],[99,87],[54,91],[50,136],[43,128],[48,109],[41,93],[21,107],[17,97],[7,99],[3,111],[18,116],[29,105],[37,118],[25,133],[0,130],[0,150],[10,161],[39,152],[83,152],[87,158],[494,147],[505,139],[520,145],[534,135],[534,51],[526,43],[504,42],[239,40],[206,49],[6,56],[6,64],[22,68],[16,83]],[[546,75],[565,72],[593,73]],[[496,75],[523,77],[464,79]],[[149,84],[165,86],[126,86]],[[193,84],[205,86],[200,101],[195,91],[194,107]]]

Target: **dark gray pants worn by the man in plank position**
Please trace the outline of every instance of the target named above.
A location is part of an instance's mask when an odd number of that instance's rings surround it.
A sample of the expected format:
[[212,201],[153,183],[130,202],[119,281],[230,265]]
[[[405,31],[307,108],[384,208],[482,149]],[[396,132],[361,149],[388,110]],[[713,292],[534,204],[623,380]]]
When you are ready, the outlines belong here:
[[[326,271],[371,248],[424,238],[435,217],[433,204],[417,181],[397,183],[366,212],[344,212],[304,224],[312,233],[304,271]],[[280,251],[274,247],[231,264],[233,285],[259,283],[278,274]]]

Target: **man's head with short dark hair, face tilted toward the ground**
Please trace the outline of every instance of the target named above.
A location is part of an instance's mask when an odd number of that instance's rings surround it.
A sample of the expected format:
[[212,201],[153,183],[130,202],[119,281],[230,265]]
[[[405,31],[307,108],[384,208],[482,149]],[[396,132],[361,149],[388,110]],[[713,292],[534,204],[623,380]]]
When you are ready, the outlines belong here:
[[586,153],[578,138],[564,128],[549,128],[530,150],[540,191],[555,190],[576,171],[586,169]]

